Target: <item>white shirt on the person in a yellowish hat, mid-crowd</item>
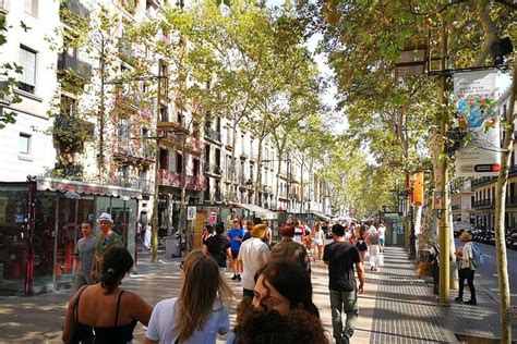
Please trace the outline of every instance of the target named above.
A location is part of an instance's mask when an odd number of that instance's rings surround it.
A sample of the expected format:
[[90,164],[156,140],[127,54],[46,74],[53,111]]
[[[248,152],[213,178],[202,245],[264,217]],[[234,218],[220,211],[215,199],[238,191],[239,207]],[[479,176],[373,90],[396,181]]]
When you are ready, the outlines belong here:
[[269,247],[257,237],[252,237],[241,245],[239,260],[242,260],[242,287],[255,288],[255,272],[269,259]]

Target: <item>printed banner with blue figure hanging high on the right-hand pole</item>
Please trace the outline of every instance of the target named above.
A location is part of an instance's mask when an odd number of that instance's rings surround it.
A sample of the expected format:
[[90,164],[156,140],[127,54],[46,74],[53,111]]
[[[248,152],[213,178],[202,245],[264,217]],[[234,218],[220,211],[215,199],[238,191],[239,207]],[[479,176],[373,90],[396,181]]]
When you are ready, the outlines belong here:
[[456,151],[457,176],[494,176],[501,170],[496,78],[496,71],[454,75],[458,126],[467,133]]

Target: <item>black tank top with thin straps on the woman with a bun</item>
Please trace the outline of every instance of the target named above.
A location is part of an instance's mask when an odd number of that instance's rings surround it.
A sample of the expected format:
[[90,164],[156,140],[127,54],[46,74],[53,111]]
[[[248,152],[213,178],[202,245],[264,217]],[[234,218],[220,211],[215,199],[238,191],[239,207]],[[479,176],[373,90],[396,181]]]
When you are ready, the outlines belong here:
[[[83,290],[84,291],[84,290]],[[81,291],[81,294],[83,293]],[[131,321],[130,323],[117,325],[119,320],[119,308],[120,308],[120,298],[124,291],[121,291],[119,298],[117,299],[117,309],[115,311],[115,323],[112,327],[92,327],[88,324],[81,323],[79,321],[79,300],[81,294],[79,294],[76,307],[75,307],[75,319],[77,321],[77,331],[79,339],[82,344],[108,344],[108,343],[128,343],[133,340],[133,330],[137,323],[136,320]]]

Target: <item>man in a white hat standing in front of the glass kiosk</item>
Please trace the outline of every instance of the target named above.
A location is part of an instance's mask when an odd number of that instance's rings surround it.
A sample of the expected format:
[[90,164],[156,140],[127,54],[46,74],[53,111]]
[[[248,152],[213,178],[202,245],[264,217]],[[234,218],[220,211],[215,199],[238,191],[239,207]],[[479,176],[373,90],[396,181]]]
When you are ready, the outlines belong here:
[[113,220],[111,214],[103,212],[97,219],[99,224],[100,235],[95,241],[95,263],[92,265],[92,279],[99,281],[103,271],[103,258],[106,249],[112,245],[122,245],[120,236],[111,230]]

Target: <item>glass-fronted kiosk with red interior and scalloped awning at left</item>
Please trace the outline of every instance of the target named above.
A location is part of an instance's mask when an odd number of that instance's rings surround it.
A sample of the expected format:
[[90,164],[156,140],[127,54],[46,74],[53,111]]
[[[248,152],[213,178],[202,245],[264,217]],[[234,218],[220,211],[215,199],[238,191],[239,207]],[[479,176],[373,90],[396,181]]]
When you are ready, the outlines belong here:
[[49,177],[0,183],[0,295],[70,287],[81,222],[92,221],[98,235],[101,212],[134,254],[141,198],[139,189]]

